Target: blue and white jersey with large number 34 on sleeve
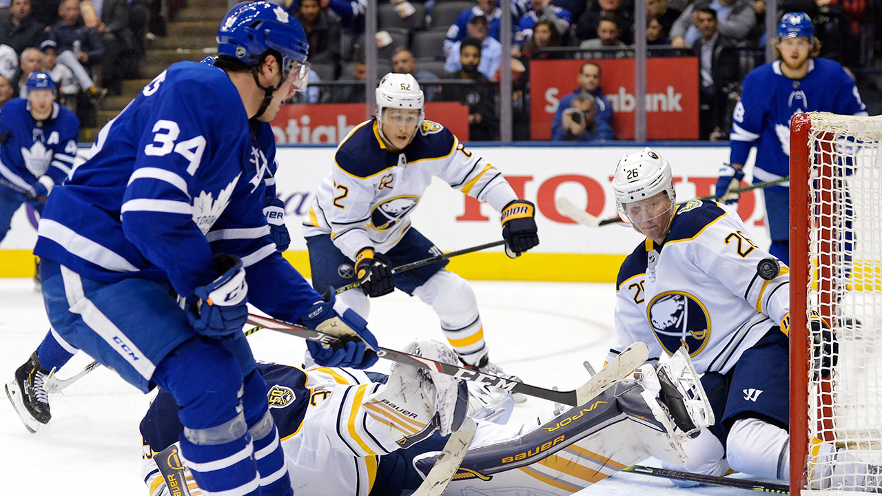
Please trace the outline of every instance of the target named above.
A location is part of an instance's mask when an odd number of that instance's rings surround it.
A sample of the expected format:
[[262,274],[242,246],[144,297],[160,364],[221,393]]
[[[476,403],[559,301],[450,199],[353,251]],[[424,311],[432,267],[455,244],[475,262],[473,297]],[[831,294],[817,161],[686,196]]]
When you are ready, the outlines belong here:
[[226,73],[174,64],[101,129],[92,157],[50,196],[34,252],[94,281],[168,282],[184,297],[217,277],[213,253],[232,254],[246,267],[250,303],[295,321],[320,297],[269,236],[269,167]]

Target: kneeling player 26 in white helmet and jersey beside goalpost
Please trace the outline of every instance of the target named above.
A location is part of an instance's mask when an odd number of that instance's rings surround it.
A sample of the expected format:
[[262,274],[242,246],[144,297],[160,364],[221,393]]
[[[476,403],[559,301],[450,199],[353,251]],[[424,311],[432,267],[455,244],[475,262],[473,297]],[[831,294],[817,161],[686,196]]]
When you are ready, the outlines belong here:
[[[655,358],[685,347],[717,419],[684,442],[689,462],[666,468],[714,476],[731,468],[787,480],[788,267],[753,244],[737,214],[720,204],[677,205],[670,164],[651,148],[622,156],[613,189],[619,214],[647,238],[619,269],[617,343],[609,357],[632,342],[645,342]],[[829,375],[835,336],[821,319],[811,326],[831,351],[819,357]],[[875,475],[865,477],[876,468],[860,462],[830,473],[825,461],[846,455],[816,441],[812,487],[878,487]]]

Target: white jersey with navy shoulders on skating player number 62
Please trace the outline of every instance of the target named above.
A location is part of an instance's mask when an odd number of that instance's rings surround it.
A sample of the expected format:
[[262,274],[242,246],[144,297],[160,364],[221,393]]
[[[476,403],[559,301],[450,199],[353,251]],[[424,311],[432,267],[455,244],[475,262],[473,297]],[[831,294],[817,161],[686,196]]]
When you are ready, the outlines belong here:
[[497,212],[518,199],[501,172],[443,125],[423,122],[413,141],[393,154],[380,138],[377,120],[371,119],[337,147],[333,170],[303,222],[303,235],[330,234],[349,259],[366,246],[387,252],[410,228],[410,213],[432,177],[488,202]]

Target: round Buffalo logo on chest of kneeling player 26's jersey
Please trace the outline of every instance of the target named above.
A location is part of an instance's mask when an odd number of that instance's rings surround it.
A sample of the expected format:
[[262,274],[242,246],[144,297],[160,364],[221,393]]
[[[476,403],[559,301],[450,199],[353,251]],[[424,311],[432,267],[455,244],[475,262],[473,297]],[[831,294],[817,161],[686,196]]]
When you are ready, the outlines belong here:
[[690,357],[704,349],[711,320],[699,298],[681,291],[666,291],[647,305],[649,325],[662,348],[673,355],[683,346]]

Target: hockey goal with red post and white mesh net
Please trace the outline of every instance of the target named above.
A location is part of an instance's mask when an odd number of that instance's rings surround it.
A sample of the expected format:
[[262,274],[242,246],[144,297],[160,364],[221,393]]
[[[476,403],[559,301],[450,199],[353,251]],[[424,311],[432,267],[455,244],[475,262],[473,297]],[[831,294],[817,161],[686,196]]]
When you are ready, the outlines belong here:
[[[790,129],[791,493],[868,492],[859,472],[882,465],[882,117],[812,112]],[[818,457],[818,440],[837,455]]]

